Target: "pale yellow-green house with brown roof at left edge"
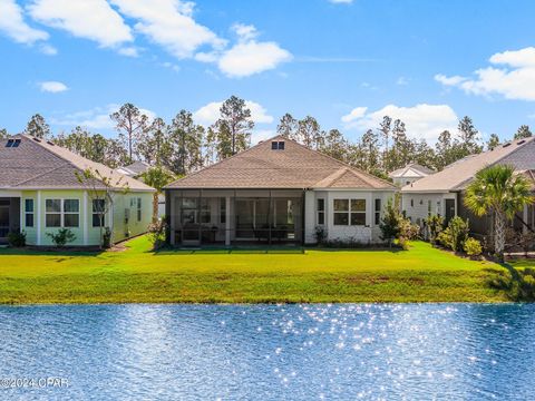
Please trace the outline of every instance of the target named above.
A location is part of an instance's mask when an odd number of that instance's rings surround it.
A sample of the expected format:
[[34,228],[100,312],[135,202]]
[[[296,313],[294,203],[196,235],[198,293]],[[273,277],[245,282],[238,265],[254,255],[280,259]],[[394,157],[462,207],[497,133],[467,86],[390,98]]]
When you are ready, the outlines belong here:
[[51,141],[17,135],[0,141],[0,241],[6,242],[9,232],[23,231],[27,244],[51,245],[47,233],[66,227],[76,235],[69,245],[98,245],[96,211],[101,200],[93,199],[88,187],[76,177],[87,168],[129,187],[126,194],[117,188],[105,217],[104,226],[111,228],[113,241],[146,232],[152,219],[152,187]]

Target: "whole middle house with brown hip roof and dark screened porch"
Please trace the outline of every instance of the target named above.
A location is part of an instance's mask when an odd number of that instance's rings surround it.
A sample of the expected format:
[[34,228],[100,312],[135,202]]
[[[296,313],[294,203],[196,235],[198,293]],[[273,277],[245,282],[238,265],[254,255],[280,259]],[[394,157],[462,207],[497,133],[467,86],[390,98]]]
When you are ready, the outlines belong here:
[[314,244],[379,242],[386,202],[397,188],[282,136],[165,188],[169,242]]

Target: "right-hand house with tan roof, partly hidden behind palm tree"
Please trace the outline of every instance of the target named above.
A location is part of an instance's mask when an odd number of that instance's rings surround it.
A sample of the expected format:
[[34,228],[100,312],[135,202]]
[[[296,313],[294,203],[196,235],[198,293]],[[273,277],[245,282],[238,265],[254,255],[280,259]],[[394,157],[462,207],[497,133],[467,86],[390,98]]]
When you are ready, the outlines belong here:
[[[535,169],[535,137],[513,140],[493,150],[465,157],[441,172],[403,186],[401,208],[407,217],[420,225],[434,214],[445,216],[447,222],[456,215],[469,218],[473,234],[487,235],[492,227],[492,216],[476,217],[471,214],[464,204],[465,189],[477,172],[498,164],[512,165],[518,174]],[[531,223],[527,218],[533,216],[533,207],[526,206],[515,218],[515,224],[533,229],[533,218]]]

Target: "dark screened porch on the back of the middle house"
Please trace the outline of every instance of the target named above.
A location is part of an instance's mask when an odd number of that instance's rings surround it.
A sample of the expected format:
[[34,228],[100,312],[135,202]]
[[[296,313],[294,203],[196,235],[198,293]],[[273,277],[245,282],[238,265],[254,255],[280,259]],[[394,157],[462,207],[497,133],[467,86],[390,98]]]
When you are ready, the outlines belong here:
[[302,190],[169,189],[166,199],[174,245],[302,244]]

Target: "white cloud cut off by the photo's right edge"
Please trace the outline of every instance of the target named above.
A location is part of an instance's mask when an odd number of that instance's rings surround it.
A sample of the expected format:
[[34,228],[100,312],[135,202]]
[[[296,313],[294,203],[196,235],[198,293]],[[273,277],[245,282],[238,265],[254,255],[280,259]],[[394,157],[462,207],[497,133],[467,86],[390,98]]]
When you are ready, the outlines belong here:
[[500,95],[506,99],[535,100],[535,48],[495,53],[489,62],[499,67],[476,70],[474,78],[435,76],[445,86],[454,86],[473,95]]

